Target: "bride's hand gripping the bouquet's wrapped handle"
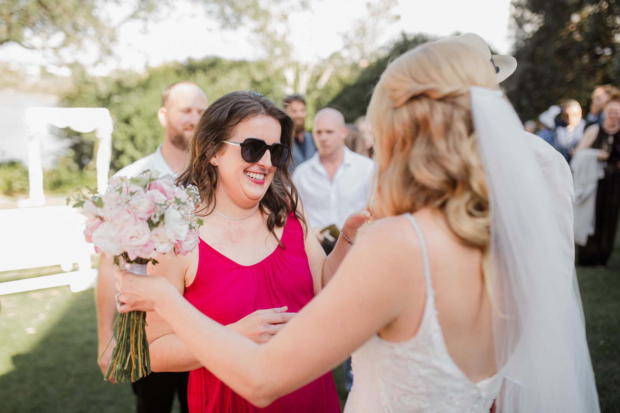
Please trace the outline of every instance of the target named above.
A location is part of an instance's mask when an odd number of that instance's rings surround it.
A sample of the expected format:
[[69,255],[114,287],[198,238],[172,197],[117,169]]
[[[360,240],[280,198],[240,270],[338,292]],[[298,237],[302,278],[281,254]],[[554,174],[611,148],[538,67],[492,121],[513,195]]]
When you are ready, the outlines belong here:
[[[157,303],[163,303],[174,294],[179,294],[170,282],[159,275],[135,275],[123,270],[116,270],[116,287],[119,313],[129,311],[157,311]],[[118,303],[122,304],[118,304]]]

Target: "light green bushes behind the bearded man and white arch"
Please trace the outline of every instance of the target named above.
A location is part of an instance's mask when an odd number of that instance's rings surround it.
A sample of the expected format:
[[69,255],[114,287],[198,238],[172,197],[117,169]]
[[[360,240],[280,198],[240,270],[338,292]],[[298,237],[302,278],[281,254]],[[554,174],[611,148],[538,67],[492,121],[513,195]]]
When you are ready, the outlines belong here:
[[[283,97],[283,76],[271,73],[266,61],[229,61],[221,58],[189,60],[151,68],[144,74],[119,73],[97,78],[74,74],[74,87],[61,104],[68,107],[106,107],[114,123],[112,171],[117,171],[153,153],[163,140],[164,128],[157,120],[161,92],[179,81],[192,81],[206,93],[209,102],[231,91],[257,91],[270,99]],[[95,138],[92,134],[66,131],[71,138],[73,169],[94,167]]]

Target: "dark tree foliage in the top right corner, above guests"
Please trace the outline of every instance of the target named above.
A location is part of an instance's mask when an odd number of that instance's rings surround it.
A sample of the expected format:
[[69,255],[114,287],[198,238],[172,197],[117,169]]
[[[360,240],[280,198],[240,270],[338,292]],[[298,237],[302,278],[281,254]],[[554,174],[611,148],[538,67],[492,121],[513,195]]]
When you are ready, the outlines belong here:
[[616,0],[516,0],[513,6],[518,66],[502,86],[521,120],[563,99],[585,107],[594,86],[620,81]]

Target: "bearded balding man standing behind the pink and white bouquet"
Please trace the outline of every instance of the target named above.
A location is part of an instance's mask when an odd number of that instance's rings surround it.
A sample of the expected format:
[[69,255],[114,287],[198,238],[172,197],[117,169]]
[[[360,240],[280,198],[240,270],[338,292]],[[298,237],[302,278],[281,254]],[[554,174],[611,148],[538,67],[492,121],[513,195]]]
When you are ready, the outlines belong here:
[[[115,176],[135,177],[146,169],[160,172],[159,179],[174,182],[184,169],[187,159],[186,149],[192,139],[193,128],[207,107],[205,92],[192,82],[179,82],[170,85],[162,92],[162,105],[157,111],[159,123],[164,127],[164,141],[157,150],[118,171]],[[97,332],[99,334],[99,357],[113,335],[113,323],[117,314],[115,295],[115,265],[112,257],[101,255],[99,279],[97,280]],[[104,373],[110,363],[115,340],[108,346],[99,361]],[[135,383],[131,383],[138,398],[138,413],[169,413],[174,394],[179,394],[181,411],[187,408],[187,380],[189,372],[151,373]]]

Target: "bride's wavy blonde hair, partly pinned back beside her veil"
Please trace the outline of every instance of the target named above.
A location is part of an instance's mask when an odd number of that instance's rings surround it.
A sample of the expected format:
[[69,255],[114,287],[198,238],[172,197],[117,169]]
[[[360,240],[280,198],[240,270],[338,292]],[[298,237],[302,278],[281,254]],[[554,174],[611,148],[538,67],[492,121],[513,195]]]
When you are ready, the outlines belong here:
[[426,43],[387,66],[368,116],[376,140],[379,215],[440,211],[454,235],[482,251],[490,294],[489,197],[471,86],[497,88],[490,61],[459,43]]

